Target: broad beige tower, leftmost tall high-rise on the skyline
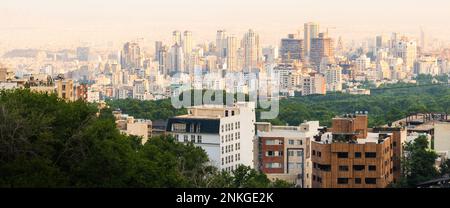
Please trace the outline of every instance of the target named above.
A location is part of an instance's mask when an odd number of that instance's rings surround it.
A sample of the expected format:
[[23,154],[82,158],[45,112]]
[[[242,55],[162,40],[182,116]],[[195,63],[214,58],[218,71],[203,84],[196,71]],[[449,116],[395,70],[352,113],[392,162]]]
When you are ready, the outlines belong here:
[[121,55],[121,65],[123,69],[133,69],[142,67],[141,48],[137,43],[125,43]]

